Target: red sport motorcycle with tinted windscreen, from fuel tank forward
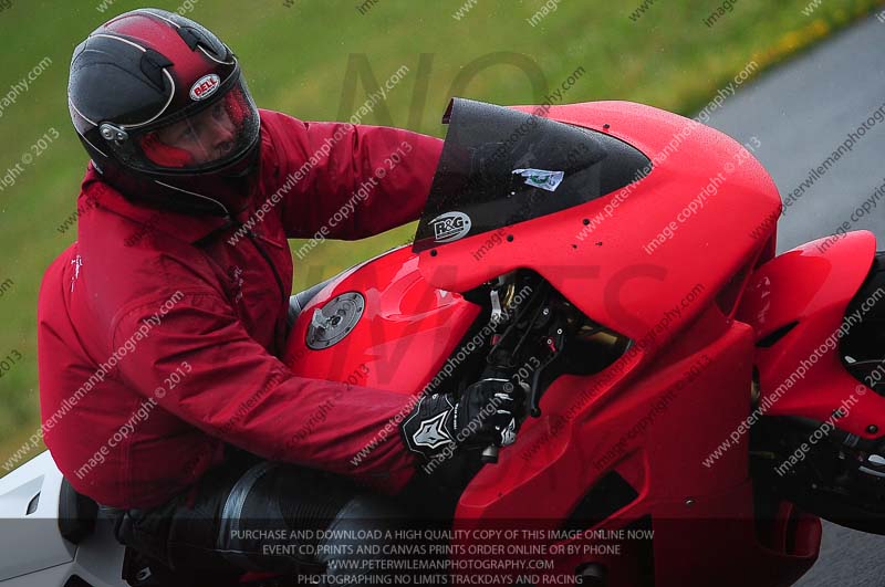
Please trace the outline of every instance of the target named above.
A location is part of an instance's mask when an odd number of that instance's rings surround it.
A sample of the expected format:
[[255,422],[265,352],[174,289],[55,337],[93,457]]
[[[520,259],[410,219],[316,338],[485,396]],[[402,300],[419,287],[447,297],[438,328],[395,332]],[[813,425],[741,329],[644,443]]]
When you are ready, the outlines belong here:
[[871,233],[775,256],[758,140],[653,107],[455,99],[444,122],[414,245],[310,292],[289,363],[403,394],[489,368],[525,385],[516,442],[458,497],[450,568],[790,585],[818,557],[818,516],[883,532]]

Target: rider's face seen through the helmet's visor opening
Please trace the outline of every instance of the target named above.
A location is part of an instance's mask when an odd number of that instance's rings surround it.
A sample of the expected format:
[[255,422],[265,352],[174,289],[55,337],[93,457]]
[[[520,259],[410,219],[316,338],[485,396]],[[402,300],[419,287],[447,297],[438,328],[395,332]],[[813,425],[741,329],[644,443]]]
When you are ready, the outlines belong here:
[[186,150],[194,165],[221,159],[233,149],[236,126],[219,102],[212,107],[157,130],[160,143]]

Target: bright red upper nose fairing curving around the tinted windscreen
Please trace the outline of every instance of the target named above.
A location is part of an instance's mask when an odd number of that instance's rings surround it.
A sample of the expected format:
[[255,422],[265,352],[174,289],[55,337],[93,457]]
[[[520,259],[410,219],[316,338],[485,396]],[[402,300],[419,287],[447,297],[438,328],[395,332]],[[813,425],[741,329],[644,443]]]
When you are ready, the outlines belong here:
[[[781,201],[762,165],[735,139],[627,102],[558,106],[546,116],[655,157],[650,172],[613,193],[509,227],[507,241],[481,260],[471,252],[488,234],[424,251],[419,266],[428,283],[462,292],[531,268],[593,319],[639,339],[698,284],[709,300],[761,254],[771,231],[760,227],[777,218]],[[676,229],[665,239],[670,224]],[[676,325],[697,317],[702,304],[684,310]],[[676,332],[668,328],[655,346]]]

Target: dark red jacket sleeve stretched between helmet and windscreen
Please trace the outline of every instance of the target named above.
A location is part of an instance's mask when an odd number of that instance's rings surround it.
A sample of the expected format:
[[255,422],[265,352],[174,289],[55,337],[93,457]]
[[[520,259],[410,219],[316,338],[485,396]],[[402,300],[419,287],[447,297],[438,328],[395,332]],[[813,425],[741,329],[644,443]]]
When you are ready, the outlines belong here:
[[[266,114],[262,112],[262,119]],[[354,240],[417,220],[442,141],[379,126],[270,113],[277,191],[289,238]]]

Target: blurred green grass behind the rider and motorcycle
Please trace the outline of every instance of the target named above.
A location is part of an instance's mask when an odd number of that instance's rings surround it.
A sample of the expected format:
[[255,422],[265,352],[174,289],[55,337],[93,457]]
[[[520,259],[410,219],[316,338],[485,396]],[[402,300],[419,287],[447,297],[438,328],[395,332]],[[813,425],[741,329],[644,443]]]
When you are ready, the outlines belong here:
[[[37,294],[44,269],[75,239],[74,230],[56,231],[74,210],[86,163],[67,117],[71,51],[112,14],[138,7],[117,0],[100,13],[100,0],[12,2],[0,12],[4,48],[0,98],[9,84],[44,56],[52,64],[0,117],[0,177],[51,127],[61,137],[14,186],[0,191],[0,283],[14,281],[0,297],[0,359],[13,349],[23,356],[20,365],[0,377],[0,461],[39,424]],[[586,73],[568,92],[566,102],[629,99],[690,114],[751,59],[762,65],[775,63],[883,2],[824,0],[809,18],[801,12],[808,0],[740,0],[712,28],[702,21],[721,4],[718,1],[657,0],[634,22],[628,14],[641,0],[621,6],[562,0],[534,28],[527,19],[541,8],[540,0],[479,0],[460,21],[452,18],[460,1],[377,0],[366,14],[360,14],[356,7],[362,2],[356,0],[291,3],[287,8],[283,0],[200,0],[188,15],[235,49],[262,107],[304,119],[350,117],[348,108],[366,98],[362,81],[354,95],[343,92],[348,55],[361,54],[379,83],[402,65],[409,69],[387,102],[362,122],[441,136],[439,117],[452,83],[462,67],[490,53],[527,55],[551,87],[584,67]],[[175,10],[181,3],[156,6]],[[427,54],[424,104],[415,101],[414,91],[421,54]],[[460,94],[500,104],[543,98],[521,69],[500,59],[473,76]],[[326,242],[296,264],[293,285],[304,287],[406,241],[410,232],[412,227],[404,227],[358,244]],[[292,245],[296,249],[300,243]]]

